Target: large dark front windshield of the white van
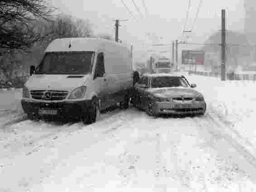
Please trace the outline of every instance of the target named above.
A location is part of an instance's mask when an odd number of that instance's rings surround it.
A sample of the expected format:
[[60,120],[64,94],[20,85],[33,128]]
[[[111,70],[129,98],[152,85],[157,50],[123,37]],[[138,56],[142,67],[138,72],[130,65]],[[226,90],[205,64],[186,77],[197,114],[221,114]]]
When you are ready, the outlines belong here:
[[95,52],[48,52],[35,74],[81,75],[92,71]]

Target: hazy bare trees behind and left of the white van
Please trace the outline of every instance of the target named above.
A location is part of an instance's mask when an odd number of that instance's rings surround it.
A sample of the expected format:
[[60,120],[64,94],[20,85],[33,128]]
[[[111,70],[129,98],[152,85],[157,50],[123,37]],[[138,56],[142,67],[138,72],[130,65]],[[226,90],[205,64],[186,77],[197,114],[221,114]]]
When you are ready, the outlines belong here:
[[51,20],[37,19],[31,21],[30,25],[33,33],[39,37],[38,41],[19,49],[0,49],[0,72],[4,74],[5,79],[12,78],[18,67],[19,70],[26,70],[30,65],[37,65],[43,57],[43,51],[54,39],[92,35],[92,27],[88,20],[75,19],[64,14],[56,15]]

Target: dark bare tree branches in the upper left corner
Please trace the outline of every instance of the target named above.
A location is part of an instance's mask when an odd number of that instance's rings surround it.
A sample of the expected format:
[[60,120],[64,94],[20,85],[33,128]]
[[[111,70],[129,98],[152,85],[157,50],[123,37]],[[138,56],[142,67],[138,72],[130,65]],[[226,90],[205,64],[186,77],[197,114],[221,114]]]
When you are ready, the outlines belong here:
[[50,18],[46,0],[0,0],[0,48],[27,50],[42,39],[33,22]]

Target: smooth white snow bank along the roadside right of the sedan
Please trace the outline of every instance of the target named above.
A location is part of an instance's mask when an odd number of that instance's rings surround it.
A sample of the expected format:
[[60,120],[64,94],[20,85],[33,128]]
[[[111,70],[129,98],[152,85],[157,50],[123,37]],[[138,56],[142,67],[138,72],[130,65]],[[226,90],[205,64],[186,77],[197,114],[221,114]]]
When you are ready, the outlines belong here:
[[187,75],[196,83],[207,102],[207,112],[220,119],[233,134],[242,138],[247,150],[256,156],[256,82],[221,81],[220,78]]

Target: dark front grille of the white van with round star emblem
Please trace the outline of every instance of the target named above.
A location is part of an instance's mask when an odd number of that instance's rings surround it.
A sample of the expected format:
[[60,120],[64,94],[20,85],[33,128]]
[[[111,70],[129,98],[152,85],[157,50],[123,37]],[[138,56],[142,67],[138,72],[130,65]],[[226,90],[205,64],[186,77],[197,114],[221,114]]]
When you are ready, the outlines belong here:
[[[48,92],[50,97],[43,97],[45,93]],[[31,90],[31,97],[39,100],[48,100],[48,101],[60,101],[67,97],[68,91],[57,91],[57,90]]]

